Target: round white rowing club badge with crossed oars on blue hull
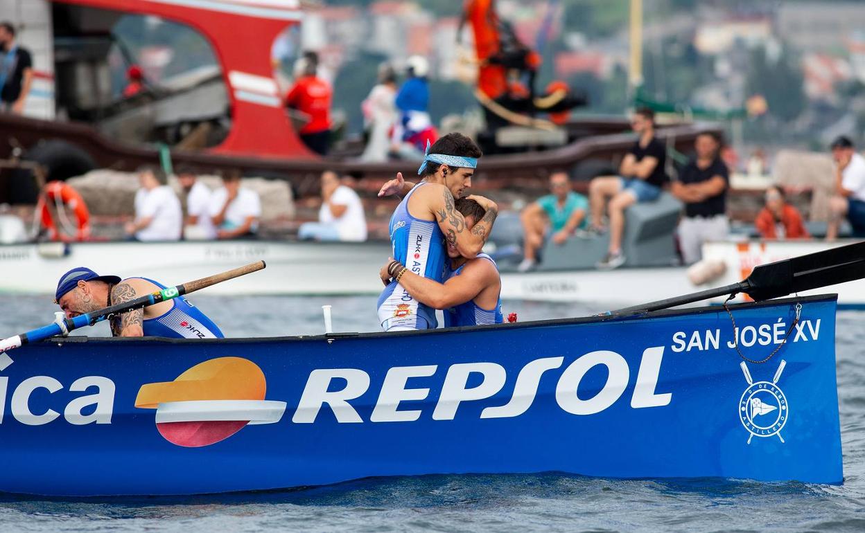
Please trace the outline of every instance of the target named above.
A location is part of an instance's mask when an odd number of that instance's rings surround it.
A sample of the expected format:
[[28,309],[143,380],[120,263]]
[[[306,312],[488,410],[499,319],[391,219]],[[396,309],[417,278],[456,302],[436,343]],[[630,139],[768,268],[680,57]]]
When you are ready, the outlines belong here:
[[790,416],[790,406],[787,403],[787,397],[784,396],[784,391],[778,386],[778,380],[781,378],[781,372],[784,371],[786,365],[787,362],[781,359],[778,371],[775,371],[775,377],[772,378],[771,382],[754,382],[745,361],[740,363],[748,382],[748,388],[742,393],[739,400],[739,418],[742,425],[751,434],[748,437],[748,444],[751,444],[751,439],[755,436],[771,437],[772,435],[778,435],[780,441],[784,442],[781,429],[784,428],[787,418]]

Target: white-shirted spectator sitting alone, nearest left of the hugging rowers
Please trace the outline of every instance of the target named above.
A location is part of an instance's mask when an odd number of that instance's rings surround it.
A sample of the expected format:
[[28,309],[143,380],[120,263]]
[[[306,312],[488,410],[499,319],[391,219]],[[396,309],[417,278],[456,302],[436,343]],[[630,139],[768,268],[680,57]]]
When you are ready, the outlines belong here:
[[301,240],[363,242],[367,220],[360,197],[351,187],[341,185],[335,172],[322,173],[322,206],[318,222],[305,222],[298,229]]

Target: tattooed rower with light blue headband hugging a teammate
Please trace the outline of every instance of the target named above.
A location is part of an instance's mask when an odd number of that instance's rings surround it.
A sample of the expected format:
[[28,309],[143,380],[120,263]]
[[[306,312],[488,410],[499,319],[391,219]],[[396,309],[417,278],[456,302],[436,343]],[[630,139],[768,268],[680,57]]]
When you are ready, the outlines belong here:
[[[464,257],[476,257],[490,236],[498,206],[483,196],[471,195],[484,208],[484,217],[471,228],[454,207],[454,201],[471,187],[481,150],[469,137],[460,133],[442,136],[426,146],[424,161],[418,168],[420,183],[403,181],[402,174],[388,181],[379,195],[405,193],[390,219],[389,233],[394,248],[391,279],[378,300],[378,314],[385,331],[432,329],[438,326],[435,309],[415,300],[400,285],[406,272],[413,272],[442,282],[444,279],[445,241],[452,243]],[[394,262],[395,263],[395,262]]]

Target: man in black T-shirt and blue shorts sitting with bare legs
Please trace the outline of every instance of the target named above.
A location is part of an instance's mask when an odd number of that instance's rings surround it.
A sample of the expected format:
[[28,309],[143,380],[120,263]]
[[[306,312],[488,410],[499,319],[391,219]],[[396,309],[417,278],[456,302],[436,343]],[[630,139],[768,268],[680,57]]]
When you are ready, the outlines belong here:
[[589,183],[589,204],[592,210],[592,229],[603,232],[604,205],[610,219],[610,246],[606,257],[598,263],[599,269],[615,269],[625,263],[622,237],[625,234],[625,209],[637,202],[657,200],[661,187],[667,182],[664,164],[667,151],[655,138],[655,112],[641,108],[631,118],[631,128],[639,138],[625,155],[618,168],[618,176],[599,176]]

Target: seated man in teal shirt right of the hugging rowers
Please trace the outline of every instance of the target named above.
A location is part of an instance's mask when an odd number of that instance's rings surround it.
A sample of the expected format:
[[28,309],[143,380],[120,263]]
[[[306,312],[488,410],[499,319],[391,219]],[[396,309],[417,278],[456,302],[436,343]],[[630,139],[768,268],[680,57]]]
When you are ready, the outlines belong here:
[[548,235],[552,235],[555,244],[565,244],[574,232],[586,227],[589,202],[571,190],[567,171],[555,170],[549,174],[549,189],[551,194],[526,206],[520,215],[524,234],[523,259],[517,267],[520,272],[535,268],[537,252]]

